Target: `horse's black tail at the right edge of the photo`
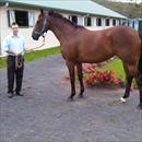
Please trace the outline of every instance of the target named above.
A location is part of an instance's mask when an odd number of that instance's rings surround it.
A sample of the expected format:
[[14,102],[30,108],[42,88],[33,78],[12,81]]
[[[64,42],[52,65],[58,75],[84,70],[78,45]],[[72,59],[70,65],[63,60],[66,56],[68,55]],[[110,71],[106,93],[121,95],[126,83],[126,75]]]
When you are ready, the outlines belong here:
[[140,54],[140,59],[139,59],[139,63],[138,63],[138,70],[139,70],[140,74],[142,74],[142,33],[139,32],[139,36],[141,39],[141,54]]

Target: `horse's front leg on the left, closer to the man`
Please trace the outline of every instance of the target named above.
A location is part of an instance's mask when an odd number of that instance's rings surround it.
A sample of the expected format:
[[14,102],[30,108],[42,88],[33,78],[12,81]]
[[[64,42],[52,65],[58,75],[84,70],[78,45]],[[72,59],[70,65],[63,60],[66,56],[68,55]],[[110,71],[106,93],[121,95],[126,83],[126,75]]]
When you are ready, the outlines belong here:
[[75,71],[74,71],[74,67],[75,63],[72,61],[67,61],[67,67],[69,70],[69,74],[70,74],[70,83],[71,83],[71,95],[69,96],[70,100],[73,100],[73,96],[75,95]]

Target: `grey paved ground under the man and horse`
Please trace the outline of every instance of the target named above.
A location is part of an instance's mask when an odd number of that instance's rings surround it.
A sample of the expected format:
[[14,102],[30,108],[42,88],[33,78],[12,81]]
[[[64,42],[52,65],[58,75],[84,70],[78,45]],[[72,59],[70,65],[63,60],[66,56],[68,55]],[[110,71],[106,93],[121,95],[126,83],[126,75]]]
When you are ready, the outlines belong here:
[[5,70],[0,70],[0,142],[142,142],[137,91],[126,104],[117,102],[123,90],[100,88],[67,102],[67,74],[60,55],[27,63],[25,95],[10,99]]

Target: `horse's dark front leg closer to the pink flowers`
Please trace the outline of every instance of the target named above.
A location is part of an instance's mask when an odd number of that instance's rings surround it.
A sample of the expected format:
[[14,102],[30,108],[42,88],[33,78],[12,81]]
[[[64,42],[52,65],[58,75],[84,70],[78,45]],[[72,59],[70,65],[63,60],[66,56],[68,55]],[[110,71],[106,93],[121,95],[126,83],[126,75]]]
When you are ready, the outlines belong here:
[[81,88],[79,97],[83,97],[84,84],[83,84],[82,63],[76,64],[76,70],[78,70],[78,78],[79,78],[79,81],[80,81],[80,88]]

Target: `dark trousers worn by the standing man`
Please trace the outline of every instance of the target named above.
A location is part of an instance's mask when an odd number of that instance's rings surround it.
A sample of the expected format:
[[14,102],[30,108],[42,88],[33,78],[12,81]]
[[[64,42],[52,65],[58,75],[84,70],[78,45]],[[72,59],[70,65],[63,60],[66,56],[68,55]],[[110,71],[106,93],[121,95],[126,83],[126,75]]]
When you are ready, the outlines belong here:
[[21,92],[23,72],[24,72],[24,58],[22,60],[22,67],[16,69],[15,56],[8,56],[8,93],[13,93],[15,79],[16,79],[15,93]]

